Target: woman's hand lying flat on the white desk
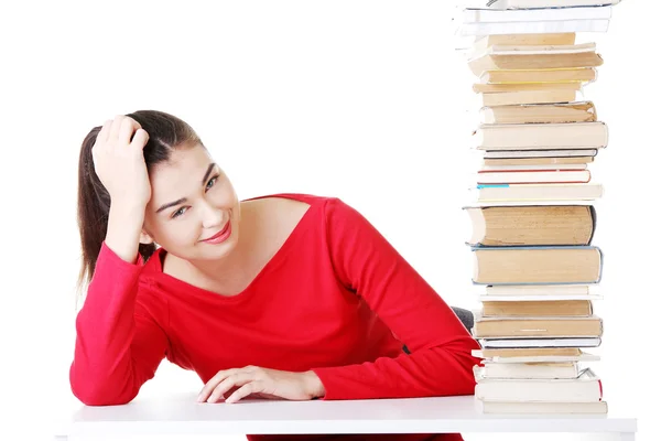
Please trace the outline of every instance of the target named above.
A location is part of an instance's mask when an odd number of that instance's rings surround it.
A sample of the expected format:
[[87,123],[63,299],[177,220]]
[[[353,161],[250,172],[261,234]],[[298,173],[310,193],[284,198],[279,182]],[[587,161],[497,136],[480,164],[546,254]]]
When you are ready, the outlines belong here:
[[204,386],[197,401],[216,402],[236,388],[225,402],[237,402],[249,395],[259,398],[284,398],[308,400],[326,394],[319,377],[312,372],[293,373],[246,366],[240,369],[220,370]]

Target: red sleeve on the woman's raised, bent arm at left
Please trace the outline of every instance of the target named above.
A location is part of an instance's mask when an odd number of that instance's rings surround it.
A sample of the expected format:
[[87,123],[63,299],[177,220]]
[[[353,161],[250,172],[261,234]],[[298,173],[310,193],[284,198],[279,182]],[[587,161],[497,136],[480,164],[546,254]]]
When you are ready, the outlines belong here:
[[102,244],[76,318],[69,369],[72,391],[85,405],[131,401],[166,354],[167,337],[138,295],[141,270]]

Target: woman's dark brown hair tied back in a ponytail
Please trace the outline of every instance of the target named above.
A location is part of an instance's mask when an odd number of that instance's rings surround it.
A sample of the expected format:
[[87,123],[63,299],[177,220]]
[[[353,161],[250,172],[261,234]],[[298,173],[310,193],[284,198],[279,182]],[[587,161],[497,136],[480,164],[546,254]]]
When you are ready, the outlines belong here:
[[[143,155],[147,169],[170,159],[174,149],[182,146],[202,144],[197,133],[186,122],[170,114],[158,110],[138,110],[128,114],[138,121],[149,135]],[[101,130],[93,128],[83,140],[78,159],[78,229],[80,232],[82,263],[77,288],[83,289],[94,277],[96,261],[106,239],[110,195],[101,184],[94,168],[91,148]],[[204,146],[203,146],[204,147]],[[139,251],[147,261],[155,251],[154,244],[140,244]]]

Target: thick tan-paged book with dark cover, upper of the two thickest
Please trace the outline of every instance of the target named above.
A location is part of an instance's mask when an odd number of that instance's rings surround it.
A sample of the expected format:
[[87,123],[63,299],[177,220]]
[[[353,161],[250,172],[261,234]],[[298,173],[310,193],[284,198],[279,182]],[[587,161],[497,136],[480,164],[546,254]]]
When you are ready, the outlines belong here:
[[472,246],[589,245],[596,227],[593,205],[464,207]]

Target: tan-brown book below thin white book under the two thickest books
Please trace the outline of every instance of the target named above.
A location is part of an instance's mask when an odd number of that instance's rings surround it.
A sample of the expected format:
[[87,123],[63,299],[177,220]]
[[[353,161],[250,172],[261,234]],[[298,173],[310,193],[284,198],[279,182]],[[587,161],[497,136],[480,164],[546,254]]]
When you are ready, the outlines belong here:
[[483,302],[483,316],[588,316],[589,300],[490,301]]

